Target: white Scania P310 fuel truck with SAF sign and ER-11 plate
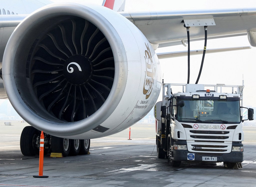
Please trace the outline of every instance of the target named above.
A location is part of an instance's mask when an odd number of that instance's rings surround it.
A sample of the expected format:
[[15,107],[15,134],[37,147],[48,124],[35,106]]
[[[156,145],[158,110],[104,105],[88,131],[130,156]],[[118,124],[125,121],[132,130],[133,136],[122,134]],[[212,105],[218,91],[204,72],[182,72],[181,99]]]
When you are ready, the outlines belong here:
[[[172,85],[183,86],[183,91],[172,94]],[[223,87],[232,88],[231,93],[223,92]],[[171,166],[207,161],[232,168],[242,162],[241,109],[253,119],[253,109],[242,107],[242,90],[237,85],[163,84],[161,109],[157,107],[161,116],[156,127],[158,158],[165,154]]]

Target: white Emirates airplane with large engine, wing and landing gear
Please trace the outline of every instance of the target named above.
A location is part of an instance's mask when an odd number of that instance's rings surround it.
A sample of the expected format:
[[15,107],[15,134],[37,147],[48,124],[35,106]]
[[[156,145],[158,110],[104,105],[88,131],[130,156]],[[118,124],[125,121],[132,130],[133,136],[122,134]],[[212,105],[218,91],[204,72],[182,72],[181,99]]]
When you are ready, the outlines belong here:
[[20,139],[24,155],[37,153],[40,131],[46,150],[88,154],[90,139],[142,119],[162,86],[155,50],[185,45],[186,27],[194,41],[207,25],[208,39],[248,35],[256,46],[256,8],[122,12],[124,1],[74,2],[1,3],[0,92],[31,125]]

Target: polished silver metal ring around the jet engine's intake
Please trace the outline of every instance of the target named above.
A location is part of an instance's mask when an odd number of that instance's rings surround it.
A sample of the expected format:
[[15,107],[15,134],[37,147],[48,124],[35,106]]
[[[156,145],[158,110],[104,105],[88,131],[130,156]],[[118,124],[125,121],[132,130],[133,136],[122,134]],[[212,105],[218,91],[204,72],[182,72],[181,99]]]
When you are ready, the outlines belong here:
[[[5,62],[3,63],[3,79],[4,84],[8,85],[6,86],[6,93],[10,99],[10,102],[17,110],[19,115],[29,124],[52,135],[61,134],[61,136],[72,136],[87,132],[97,127],[105,119],[107,119],[118,106],[125,89],[127,80],[127,58],[125,55],[120,55],[125,54],[122,40],[119,38],[119,35],[115,28],[113,28],[112,24],[97,11],[108,11],[108,14],[113,14],[114,16],[119,15],[116,15],[116,13],[114,14],[112,10],[108,10],[105,7],[97,7],[94,5],[91,7],[92,8],[75,3],[54,3],[42,7],[26,17],[19,24],[19,26],[16,27],[6,45],[6,52],[3,58],[3,61]],[[16,63],[18,61],[18,59],[15,58],[16,51],[19,47],[22,47],[20,42],[29,34],[30,29],[40,27],[40,23],[44,22],[45,20],[63,15],[81,17],[87,19],[97,26],[109,41],[115,61],[115,79],[109,97],[106,99],[105,103],[103,103],[102,107],[97,112],[86,118],[86,121],[81,120],[76,122],[66,122],[67,125],[65,126],[65,129],[61,128],[63,123],[65,124],[63,121],[54,118],[46,119],[42,116],[38,116],[38,111],[39,113],[44,113],[40,106],[38,106],[34,112],[31,112],[31,110],[33,111],[34,109],[31,109],[29,105],[31,105],[30,102],[33,101],[29,101],[28,98],[23,100],[21,97],[20,94],[24,94],[22,91],[25,91],[26,88],[22,88],[17,84],[16,75],[18,75],[19,72],[17,73],[14,71],[15,61]],[[126,18],[123,17],[120,19]],[[35,25],[31,25],[31,23],[35,23]],[[118,79],[120,75],[122,76],[122,80]],[[24,79],[24,81],[25,80],[26,79]],[[100,118],[98,116],[100,116]]]

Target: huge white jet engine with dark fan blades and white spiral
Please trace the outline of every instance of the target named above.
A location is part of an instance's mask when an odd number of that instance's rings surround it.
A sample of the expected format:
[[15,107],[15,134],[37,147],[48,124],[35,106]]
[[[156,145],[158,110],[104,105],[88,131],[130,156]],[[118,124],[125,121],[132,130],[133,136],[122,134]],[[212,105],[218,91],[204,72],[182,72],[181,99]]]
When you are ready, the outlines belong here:
[[51,4],[25,18],[8,40],[3,80],[31,126],[91,139],[131,126],[155,104],[161,71],[141,31],[97,5]]

